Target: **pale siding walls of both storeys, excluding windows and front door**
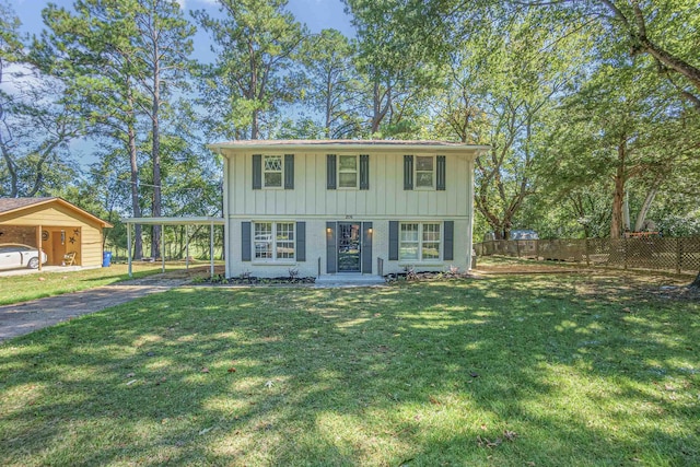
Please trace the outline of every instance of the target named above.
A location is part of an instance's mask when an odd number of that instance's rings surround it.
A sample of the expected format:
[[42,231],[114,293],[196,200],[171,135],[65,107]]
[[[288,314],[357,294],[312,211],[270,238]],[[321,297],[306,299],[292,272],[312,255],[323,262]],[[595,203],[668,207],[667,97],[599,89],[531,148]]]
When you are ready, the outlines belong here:
[[[212,144],[225,157],[224,218],[229,277],[252,273],[258,277],[287,276],[298,269],[301,277],[327,273],[327,222],[372,223],[372,273],[377,258],[383,272],[400,272],[405,266],[420,270],[444,270],[454,265],[467,270],[471,256],[474,161],[485,147],[401,145],[376,148],[362,142],[338,145],[270,144],[260,141],[254,148],[236,143]],[[254,154],[293,154],[293,189],[254,189]],[[369,189],[327,187],[327,155],[369,155]],[[406,189],[405,155],[445,157],[445,189]],[[243,260],[241,238],[244,222],[303,222],[305,260],[264,262]],[[451,260],[407,265],[389,260],[389,223],[444,222],[453,225]],[[245,224],[247,225],[247,224]],[[369,224],[363,224],[369,225]],[[320,265],[320,268],[319,268]],[[319,270],[320,269],[320,270]]]

